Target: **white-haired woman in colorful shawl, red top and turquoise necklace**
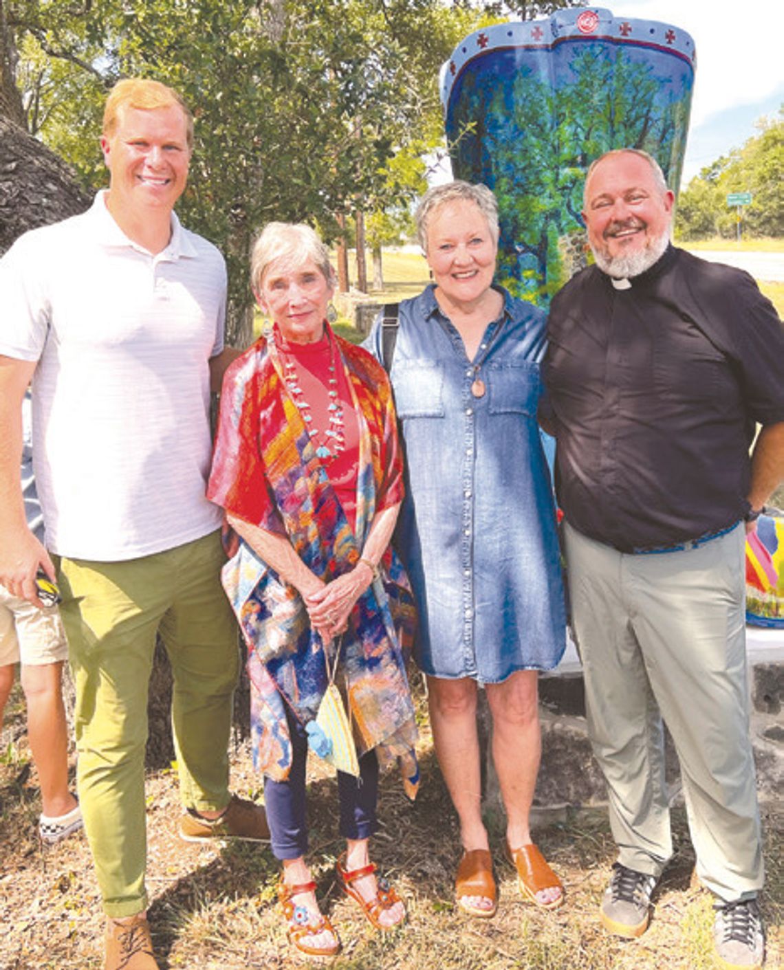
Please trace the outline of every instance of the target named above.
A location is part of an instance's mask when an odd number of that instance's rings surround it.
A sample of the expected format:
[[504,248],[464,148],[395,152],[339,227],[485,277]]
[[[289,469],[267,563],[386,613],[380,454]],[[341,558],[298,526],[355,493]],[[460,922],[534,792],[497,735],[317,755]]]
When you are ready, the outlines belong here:
[[411,797],[418,781],[404,653],[413,598],[390,547],[402,457],[385,372],[327,322],[333,270],[316,234],[268,225],[251,279],[272,323],[226,373],[208,494],[240,536],[223,583],[248,646],[254,760],[288,935],[325,956],[340,942],[305,860],[306,760],[309,743],[336,754],[318,714],[328,689],[347,703],[343,741],[358,756],[353,769],[351,758],[333,760],[346,839],[339,882],[376,928],[406,916],[368,851],[379,762],[401,767]]

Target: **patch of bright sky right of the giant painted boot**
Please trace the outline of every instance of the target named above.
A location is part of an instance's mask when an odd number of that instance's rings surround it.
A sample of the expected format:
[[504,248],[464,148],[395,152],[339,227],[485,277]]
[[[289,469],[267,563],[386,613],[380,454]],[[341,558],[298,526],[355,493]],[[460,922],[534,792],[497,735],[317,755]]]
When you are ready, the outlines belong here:
[[784,102],[784,3],[750,0],[617,0],[614,16],[662,20],[697,46],[694,100],[683,184],[730,148],[755,135],[754,122]]

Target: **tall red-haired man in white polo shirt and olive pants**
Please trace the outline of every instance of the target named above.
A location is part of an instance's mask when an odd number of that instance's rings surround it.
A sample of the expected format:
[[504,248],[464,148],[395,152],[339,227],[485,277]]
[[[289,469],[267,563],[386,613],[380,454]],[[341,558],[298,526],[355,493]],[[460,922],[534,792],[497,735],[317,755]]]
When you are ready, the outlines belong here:
[[217,389],[232,352],[223,259],[173,211],[192,134],[176,92],[120,81],[101,139],[109,190],[0,260],[0,583],[40,605],[36,572],[54,578],[19,489],[32,379],[39,496],[77,682],[79,794],[109,917],[106,970],[157,967],[144,792],[156,632],[175,682],[180,834],[269,834],[263,809],[227,787],[237,633],[205,485],[211,377]]

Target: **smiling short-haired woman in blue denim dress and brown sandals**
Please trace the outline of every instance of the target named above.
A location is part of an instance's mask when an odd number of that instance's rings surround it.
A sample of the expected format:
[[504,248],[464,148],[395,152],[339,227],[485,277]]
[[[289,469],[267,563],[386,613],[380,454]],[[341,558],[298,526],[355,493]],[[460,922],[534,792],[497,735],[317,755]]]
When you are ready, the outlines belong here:
[[[552,489],[537,423],[544,314],[494,285],[498,209],[484,185],[432,188],[417,211],[433,283],[400,305],[390,378],[406,450],[396,548],[414,590],[414,657],[427,675],[441,772],[463,857],[458,904],[496,910],[481,818],[476,697],[493,717],[506,848],[524,897],[563,888],[531,841],[539,770],[539,670],[566,635]],[[381,321],[366,346],[389,366]]]

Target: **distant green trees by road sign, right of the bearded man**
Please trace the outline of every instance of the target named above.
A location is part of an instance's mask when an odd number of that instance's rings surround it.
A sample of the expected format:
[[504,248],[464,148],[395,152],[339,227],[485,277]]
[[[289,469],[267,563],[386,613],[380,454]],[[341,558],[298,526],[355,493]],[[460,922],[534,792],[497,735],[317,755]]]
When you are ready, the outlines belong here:
[[731,192],[751,192],[743,207],[743,234],[784,236],[784,107],[776,117],[758,122],[759,134],[742,148],[716,159],[692,178],[681,193],[675,234],[683,240],[735,237],[736,212],[727,205]]

